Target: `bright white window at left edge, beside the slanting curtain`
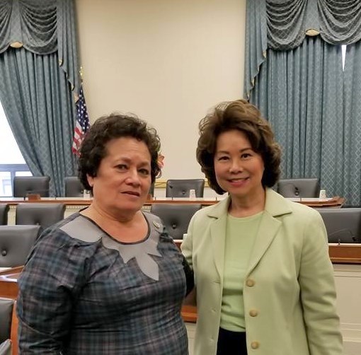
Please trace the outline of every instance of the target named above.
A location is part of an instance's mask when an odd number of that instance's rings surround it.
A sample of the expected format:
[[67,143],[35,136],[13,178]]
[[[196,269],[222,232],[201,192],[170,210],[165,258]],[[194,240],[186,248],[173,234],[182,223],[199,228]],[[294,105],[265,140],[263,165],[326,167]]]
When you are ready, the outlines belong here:
[[0,197],[13,196],[14,176],[31,176],[0,103]]

